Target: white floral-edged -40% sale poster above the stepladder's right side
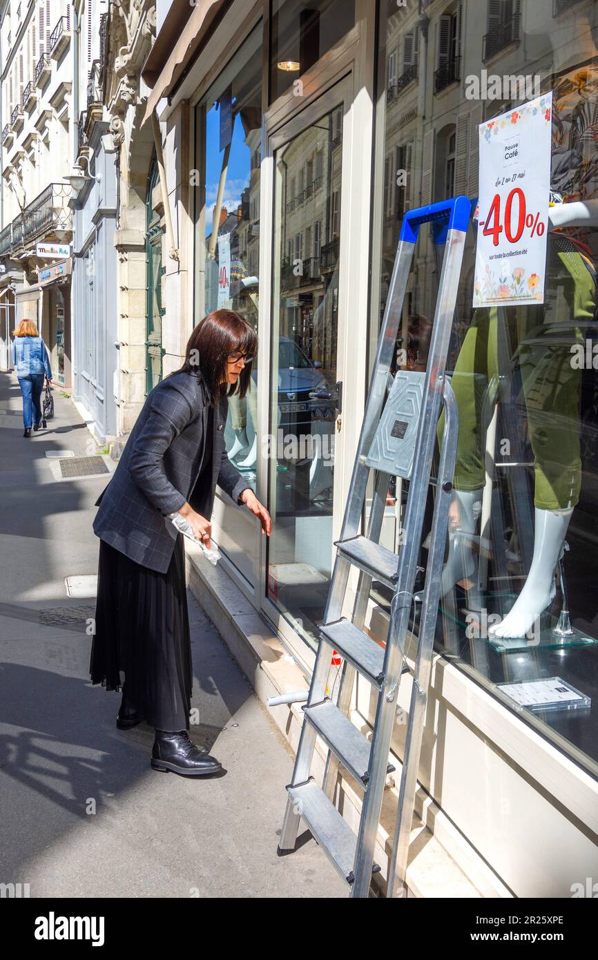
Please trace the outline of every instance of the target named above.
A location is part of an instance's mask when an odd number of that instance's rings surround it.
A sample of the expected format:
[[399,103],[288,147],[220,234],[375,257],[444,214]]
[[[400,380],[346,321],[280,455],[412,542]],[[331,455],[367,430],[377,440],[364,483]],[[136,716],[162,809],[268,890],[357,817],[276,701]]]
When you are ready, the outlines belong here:
[[473,306],[543,303],[552,92],[480,124]]

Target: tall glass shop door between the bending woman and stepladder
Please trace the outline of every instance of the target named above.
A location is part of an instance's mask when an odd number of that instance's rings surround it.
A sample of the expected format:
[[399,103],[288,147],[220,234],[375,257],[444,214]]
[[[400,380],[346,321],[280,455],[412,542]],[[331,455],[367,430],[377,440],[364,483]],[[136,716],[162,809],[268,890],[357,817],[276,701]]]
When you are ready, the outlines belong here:
[[266,607],[281,633],[315,648],[344,503],[345,318],[341,229],[348,84],[337,84],[271,137],[271,306]]

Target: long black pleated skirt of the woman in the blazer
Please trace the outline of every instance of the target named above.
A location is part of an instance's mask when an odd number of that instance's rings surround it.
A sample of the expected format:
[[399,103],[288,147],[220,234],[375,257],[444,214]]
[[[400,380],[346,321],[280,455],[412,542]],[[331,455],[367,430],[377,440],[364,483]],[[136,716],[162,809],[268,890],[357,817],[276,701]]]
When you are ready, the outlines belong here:
[[100,540],[89,676],[127,699],[157,730],[188,730],[193,669],[179,534],[166,573]]

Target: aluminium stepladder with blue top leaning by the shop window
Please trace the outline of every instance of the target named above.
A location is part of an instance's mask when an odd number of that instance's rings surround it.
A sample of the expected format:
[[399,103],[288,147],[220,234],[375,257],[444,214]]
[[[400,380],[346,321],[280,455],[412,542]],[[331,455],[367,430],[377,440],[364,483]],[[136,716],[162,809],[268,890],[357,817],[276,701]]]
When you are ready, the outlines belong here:
[[[471,204],[467,198],[456,197],[411,210],[403,218],[341,539],[335,544],[337,555],[323,623],[319,628],[318,654],[307,703],[303,707],[305,715],[293,779],[287,786],[288,799],[278,853],[282,855],[295,848],[302,818],[347,880],[353,898],[369,896],[371,875],[380,869],[373,862],[374,845],[386,777],[395,769],[389,766],[388,759],[395,725],[397,689],[401,673],[406,669],[404,648],[414,599],[437,424],[443,405],[443,444],[419,617],[395,839],[387,877],[389,897],[394,895],[395,875],[400,879],[403,892],[457,447],[458,415],[445,376],[445,364],[470,213]],[[427,370],[425,373],[398,371],[393,378],[390,367],[402,304],[419,227],[426,223],[432,225],[434,242],[444,245]],[[359,529],[371,469],[374,470],[374,491],[367,536],[364,537],[359,535]],[[398,554],[378,542],[391,476],[410,481],[402,546]],[[357,567],[360,574],[352,616],[347,619],[342,616],[342,610],[352,566]],[[394,591],[384,650],[363,632],[373,579],[387,584]],[[333,649],[344,661],[336,704],[326,696]],[[347,716],[355,670],[378,690],[371,744]],[[310,776],[317,735],[323,738],[328,748],[322,787]],[[332,803],[339,763],[364,790],[357,835]]]

